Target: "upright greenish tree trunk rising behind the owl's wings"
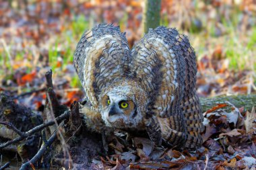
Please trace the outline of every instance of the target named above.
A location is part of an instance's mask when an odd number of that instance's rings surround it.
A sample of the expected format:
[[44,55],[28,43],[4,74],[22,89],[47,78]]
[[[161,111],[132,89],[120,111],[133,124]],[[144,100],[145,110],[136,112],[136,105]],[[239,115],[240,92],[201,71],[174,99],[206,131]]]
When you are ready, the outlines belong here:
[[143,12],[143,32],[148,33],[149,28],[160,25],[161,0],[146,0]]

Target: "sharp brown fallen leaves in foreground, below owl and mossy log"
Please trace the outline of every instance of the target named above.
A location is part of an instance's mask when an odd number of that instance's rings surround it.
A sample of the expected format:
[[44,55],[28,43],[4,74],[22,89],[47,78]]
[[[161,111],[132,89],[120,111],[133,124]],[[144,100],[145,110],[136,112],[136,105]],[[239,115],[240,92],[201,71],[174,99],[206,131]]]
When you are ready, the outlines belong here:
[[243,109],[234,105],[228,113],[216,107],[204,114],[209,124],[202,133],[203,146],[196,151],[157,147],[137,136],[128,141],[119,135],[108,145],[113,155],[95,161],[92,169],[255,169],[255,109],[244,118]]

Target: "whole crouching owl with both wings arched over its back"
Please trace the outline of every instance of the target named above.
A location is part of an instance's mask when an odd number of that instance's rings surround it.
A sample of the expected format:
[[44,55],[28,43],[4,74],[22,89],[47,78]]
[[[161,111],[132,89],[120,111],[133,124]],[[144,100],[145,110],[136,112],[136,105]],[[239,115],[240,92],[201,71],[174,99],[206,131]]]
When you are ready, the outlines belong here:
[[187,36],[160,26],[130,50],[119,27],[99,24],[82,35],[73,63],[86,91],[88,127],[146,130],[155,144],[180,148],[201,145],[197,66]]

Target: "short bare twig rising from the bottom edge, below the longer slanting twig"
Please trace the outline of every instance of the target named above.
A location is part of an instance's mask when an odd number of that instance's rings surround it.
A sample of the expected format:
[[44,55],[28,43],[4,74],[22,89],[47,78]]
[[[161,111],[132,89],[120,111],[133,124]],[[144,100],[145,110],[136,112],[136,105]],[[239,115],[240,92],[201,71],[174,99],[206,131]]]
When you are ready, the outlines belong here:
[[20,168],[20,170],[22,170],[22,169],[28,169],[28,167],[30,167],[30,164],[32,164],[32,165],[36,164],[36,162],[42,157],[42,155],[44,155],[44,152],[46,151],[46,148],[47,148],[48,146],[51,146],[51,144],[53,144],[53,142],[55,141],[56,138],[57,138],[57,133],[55,132],[55,133],[53,133],[53,135],[49,138],[49,140],[47,140],[46,143],[43,143],[43,144],[42,144],[40,150],[36,153],[36,155],[34,155],[34,157],[33,157],[30,161],[28,161],[28,162],[26,162],[26,163],[24,163],[24,164],[22,165],[22,167]]

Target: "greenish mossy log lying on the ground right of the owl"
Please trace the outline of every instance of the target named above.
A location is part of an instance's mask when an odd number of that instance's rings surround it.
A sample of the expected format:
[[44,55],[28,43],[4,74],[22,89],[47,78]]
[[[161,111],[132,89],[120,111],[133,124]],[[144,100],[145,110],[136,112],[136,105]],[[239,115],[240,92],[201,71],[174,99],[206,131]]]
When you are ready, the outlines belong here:
[[[232,103],[236,108],[245,107],[246,110],[251,112],[253,106],[256,106],[256,94],[253,95],[222,95],[217,97],[200,97],[200,103],[203,112],[213,108],[218,103]],[[230,107],[225,108],[228,110]]]

